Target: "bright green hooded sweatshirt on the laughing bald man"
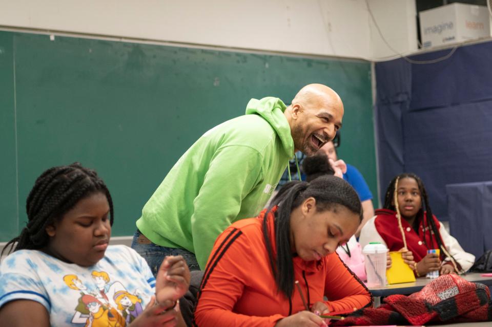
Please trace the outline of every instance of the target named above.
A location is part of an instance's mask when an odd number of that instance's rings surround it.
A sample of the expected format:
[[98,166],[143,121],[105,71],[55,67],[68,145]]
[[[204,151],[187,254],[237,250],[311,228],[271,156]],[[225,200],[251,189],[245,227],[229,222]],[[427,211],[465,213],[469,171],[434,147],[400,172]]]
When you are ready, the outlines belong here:
[[294,155],[284,110],[278,98],[251,99],[246,115],[203,134],[144,206],[138,229],[157,245],[195,253],[204,270],[215,238],[261,211]]

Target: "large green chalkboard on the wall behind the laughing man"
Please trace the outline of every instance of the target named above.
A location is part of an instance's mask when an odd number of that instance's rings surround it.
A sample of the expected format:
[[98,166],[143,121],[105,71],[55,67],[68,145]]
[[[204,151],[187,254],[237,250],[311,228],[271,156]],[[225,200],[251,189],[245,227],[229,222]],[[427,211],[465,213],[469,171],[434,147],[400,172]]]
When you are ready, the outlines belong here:
[[114,199],[113,235],[132,235],[141,208],[206,130],[250,98],[290,102],[332,86],[345,116],[340,157],[373,194],[370,63],[0,32],[0,241],[25,226],[25,201],[46,168],[79,161]]

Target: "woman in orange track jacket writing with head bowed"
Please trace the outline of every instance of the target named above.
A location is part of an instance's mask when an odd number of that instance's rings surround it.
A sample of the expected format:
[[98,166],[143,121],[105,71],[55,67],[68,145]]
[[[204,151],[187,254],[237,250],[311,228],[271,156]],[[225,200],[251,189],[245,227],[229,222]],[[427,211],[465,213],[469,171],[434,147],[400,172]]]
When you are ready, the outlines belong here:
[[357,193],[340,178],[286,184],[258,217],[216,239],[195,326],[324,326],[321,314],[372,303],[335,252],[361,219]]

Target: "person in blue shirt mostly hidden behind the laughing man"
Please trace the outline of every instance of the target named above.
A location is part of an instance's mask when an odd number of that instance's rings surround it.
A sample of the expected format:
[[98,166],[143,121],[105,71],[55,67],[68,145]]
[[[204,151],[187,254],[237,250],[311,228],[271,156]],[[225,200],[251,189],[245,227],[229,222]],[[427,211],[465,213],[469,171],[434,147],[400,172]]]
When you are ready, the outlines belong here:
[[[338,160],[337,150],[332,141],[326,142],[326,144],[324,144],[318,152],[323,152],[329,159],[332,159],[333,161]],[[355,236],[359,237],[362,226],[364,226],[364,224],[374,216],[373,194],[371,193],[369,186],[367,186],[367,183],[365,182],[364,177],[362,176],[360,171],[350,164],[346,165],[347,171],[343,174],[343,179],[347,181],[348,184],[352,185],[357,194],[359,194],[364,214],[364,218],[360,223],[359,229],[355,233]]]

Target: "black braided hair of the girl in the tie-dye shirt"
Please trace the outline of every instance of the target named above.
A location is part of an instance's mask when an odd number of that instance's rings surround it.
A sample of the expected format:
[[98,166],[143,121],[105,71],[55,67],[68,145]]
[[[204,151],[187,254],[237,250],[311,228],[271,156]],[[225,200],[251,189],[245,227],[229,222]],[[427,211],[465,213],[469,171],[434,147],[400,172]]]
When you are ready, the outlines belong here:
[[[89,195],[101,192],[106,195],[110,207],[110,224],[113,225],[113,202],[106,184],[97,173],[79,163],[52,167],[36,180],[26,201],[27,226],[20,235],[7,243],[8,254],[22,249],[41,249],[48,244],[47,226],[72,209]],[[14,247],[15,246],[15,247]]]

